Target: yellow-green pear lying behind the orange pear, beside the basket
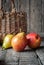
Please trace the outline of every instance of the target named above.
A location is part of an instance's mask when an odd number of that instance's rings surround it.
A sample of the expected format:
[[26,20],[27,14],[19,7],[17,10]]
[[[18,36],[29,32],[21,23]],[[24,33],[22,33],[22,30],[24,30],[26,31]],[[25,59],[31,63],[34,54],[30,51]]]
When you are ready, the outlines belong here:
[[3,40],[3,45],[2,48],[3,49],[7,49],[11,47],[11,39],[12,39],[13,35],[12,34],[7,34]]

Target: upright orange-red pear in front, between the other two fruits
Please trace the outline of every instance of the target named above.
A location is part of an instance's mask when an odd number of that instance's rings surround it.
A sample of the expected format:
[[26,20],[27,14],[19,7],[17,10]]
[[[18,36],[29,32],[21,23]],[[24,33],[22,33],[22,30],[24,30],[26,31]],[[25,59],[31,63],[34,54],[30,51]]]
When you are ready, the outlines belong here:
[[23,51],[27,45],[27,39],[24,32],[17,33],[11,40],[11,45],[15,51]]

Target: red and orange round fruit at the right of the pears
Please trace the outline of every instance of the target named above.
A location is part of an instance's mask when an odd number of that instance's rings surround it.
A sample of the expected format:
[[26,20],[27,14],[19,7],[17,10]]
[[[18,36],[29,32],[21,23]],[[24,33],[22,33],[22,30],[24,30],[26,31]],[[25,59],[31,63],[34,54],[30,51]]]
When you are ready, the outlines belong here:
[[28,46],[30,48],[38,48],[40,47],[40,43],[41,43],[41,38],[39,36],[39,34],[37,33],[30,33],[26,35],[26,38],[28,40]]

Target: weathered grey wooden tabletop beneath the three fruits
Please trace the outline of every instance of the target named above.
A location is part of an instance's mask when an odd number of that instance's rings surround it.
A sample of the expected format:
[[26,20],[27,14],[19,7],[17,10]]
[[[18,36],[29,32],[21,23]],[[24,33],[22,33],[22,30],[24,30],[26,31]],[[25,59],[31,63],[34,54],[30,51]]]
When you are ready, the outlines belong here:
[[38,49],[26,48],[23,52],[0,47],[0,65],[44,65],[44,42]]

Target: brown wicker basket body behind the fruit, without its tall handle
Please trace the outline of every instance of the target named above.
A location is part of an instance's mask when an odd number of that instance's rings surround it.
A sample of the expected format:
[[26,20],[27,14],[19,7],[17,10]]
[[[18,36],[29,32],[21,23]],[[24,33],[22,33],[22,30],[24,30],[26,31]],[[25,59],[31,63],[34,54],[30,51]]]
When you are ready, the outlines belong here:
[[15,8],[11,12],[3,12],[0,10],[0,38],[4,38],[6,34],[16,34],[20,28],[27,32],[27,15],[26,12],[17,12]]

